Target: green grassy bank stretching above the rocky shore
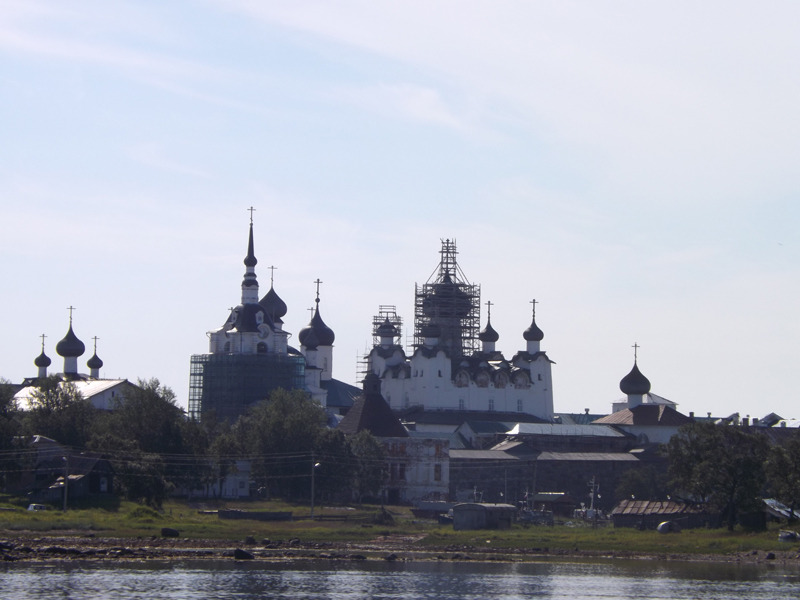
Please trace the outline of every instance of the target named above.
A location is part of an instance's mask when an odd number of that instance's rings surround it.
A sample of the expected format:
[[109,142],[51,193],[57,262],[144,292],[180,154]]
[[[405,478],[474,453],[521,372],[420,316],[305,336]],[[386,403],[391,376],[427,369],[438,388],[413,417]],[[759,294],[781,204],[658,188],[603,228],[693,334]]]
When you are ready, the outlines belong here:
[[[216,508],[247,511],[289,511],[291,521],[220,519]],[[695,529],[662,535],[655,531],[592,528],[582,523],[553,527],[515,525],[506,531],[454,531],[451,526],[415,519],[406,507],[388,507],[391,522],[381,519],[381,508],[316,507],[310,521],[309,507],[280,502],[187,503],[169,501],[162,511],[126,501],[110,501],[92,508],[67,512],[31,512],[0,498],[0,536],[63,536],[145,538],[160,537],[162,527],[180,532],[184,540],[244,540],[257,542],[298,539],[301,542],[365,543],[387,537],[404,538],[409,550],[494,549],[534,552],[614,553],[622,556],[651,554],[726,555],[752,551],[796,549],[797,544],[778,541],[777,528],[765,532]]]

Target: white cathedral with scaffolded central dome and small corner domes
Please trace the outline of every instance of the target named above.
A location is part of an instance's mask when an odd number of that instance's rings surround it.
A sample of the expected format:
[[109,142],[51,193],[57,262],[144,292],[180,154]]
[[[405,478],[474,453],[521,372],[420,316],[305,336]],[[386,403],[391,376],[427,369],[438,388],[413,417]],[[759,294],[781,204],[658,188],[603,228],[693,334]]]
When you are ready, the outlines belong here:
[[381,392],[396,411],[511,412],[551,421],[553,361],[541,349],[535,301],[521,335],[524,349],[506,358],[496,349],[490,303],[486,326],[479,328],[480,286],[466,279],[456,254],[455,242],[443,240],[438,271],[416,286],[410,356],[400,343],[402,320],[393,307],[381,307],[373,320],[367,372],[380,378]]

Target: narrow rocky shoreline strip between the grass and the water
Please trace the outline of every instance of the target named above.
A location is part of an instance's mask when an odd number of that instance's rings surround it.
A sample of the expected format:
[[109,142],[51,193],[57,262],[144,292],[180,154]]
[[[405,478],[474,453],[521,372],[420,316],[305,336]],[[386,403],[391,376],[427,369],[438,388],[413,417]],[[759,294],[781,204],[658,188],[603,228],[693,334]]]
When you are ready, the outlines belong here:
[[800,569],[800,549],[734,554],[640,554],[627,551],[550,550],[548,548],[489,548],[446,546],[419,548],[416,536],[381,536],[367,542],[301,542],[290,540],[198,540],[187,538],[108,538],[93,536],[0,538],[0,557],[18,561],[121,560],[253,560],[287,562],[327,561],[501,561],[535,560],[668,560],[776,564]]

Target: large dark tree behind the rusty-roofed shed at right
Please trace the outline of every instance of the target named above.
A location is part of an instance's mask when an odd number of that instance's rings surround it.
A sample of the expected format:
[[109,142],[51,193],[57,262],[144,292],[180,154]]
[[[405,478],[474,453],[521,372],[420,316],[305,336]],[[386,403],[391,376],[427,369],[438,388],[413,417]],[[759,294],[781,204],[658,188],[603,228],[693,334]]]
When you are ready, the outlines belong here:
[[672,484],[706,502],[733,529],[740,512],[757,510],[764,487],[767,442],[739,427],[694,422],[667,444]]

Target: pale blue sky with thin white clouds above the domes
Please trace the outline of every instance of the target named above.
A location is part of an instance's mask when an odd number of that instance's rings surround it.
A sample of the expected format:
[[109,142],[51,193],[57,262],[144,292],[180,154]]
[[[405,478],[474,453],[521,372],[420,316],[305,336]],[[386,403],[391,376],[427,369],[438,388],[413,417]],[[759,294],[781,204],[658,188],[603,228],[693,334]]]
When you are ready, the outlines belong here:
[[[688,414],[800,418],[800,5],[0,0],[0,376],[73,327],[157,378],[239,303],[249,207],[290,343],[357,384],[441,240],[557,412],[634,360]],[[482,307],[481,323],[486,309]],[[294,342],[292,342],[294,340]]]

